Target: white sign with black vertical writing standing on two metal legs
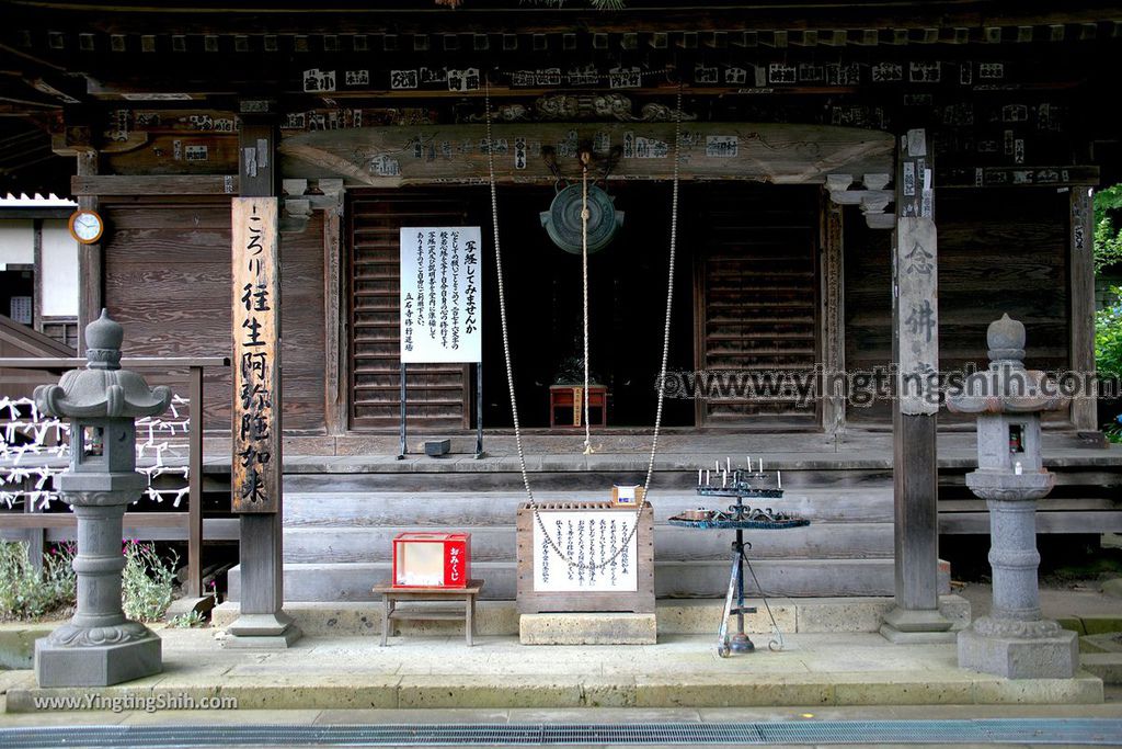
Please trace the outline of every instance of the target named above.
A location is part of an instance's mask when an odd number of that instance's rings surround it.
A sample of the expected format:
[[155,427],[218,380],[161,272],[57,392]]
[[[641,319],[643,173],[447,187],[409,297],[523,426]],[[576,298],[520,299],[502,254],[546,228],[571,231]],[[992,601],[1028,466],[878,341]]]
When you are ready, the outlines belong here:
[[402,227],[403,363],[479,362],[479,227]]

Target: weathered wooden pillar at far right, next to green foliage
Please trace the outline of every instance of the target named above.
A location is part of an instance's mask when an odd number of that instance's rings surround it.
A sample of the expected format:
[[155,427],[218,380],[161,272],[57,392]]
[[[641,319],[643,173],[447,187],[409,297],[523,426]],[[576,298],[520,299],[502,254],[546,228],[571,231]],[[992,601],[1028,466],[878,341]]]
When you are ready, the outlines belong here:
[[[1076,185],[1069,194],[1070,365],[1082,376],[1095,371],[1095,211],[1089,188]],[[1092,393],[1072,401],[1072,423],[1079,432],[1098,430],[1098,403]]]

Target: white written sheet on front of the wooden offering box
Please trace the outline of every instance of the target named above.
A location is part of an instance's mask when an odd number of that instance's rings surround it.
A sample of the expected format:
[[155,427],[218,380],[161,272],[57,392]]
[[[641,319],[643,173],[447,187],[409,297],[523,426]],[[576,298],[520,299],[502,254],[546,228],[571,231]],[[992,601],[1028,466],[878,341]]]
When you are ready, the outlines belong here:
[[[638,590],[635,558],[638,535],[632,533],[634,512],[541,512],[550,538],[578,566],[569,566],[550,547],[534,521],[534,592],[629,592]],[[626,546],[625,546],[626,542]],[[620,550],[620,547],[623,550]],[[616,551],[619,551],[616,555]],[[613,556],[615,558],[613,559]],[[611,559],[611,561],[608,561]],[[579,565],[597,566],[585,569]]]

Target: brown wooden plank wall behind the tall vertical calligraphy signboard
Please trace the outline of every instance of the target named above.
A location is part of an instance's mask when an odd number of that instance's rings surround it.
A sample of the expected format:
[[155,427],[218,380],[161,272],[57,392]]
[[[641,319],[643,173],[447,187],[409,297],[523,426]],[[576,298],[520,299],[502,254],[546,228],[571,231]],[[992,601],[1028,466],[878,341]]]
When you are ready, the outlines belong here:
[[[230,201],[103,203],[105,303],[126,356],[229,356]],[[286,431],[322,432],[323,220],[280,237]],[[230,428],[230,372],[205,382],[206,429]]]

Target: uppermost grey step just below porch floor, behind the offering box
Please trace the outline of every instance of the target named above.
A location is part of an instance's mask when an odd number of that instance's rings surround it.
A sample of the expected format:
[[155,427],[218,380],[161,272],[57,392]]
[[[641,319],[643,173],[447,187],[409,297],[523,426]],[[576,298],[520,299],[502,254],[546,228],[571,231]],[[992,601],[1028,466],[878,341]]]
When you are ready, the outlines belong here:
[[[541,504],[605,501],[609,487],[610,484],[591,491],[535,492],[534,497]],[[672,490],[652,490],[650,499],[656,523],[683,510],[716,509],[732,503],[728,497]],[[518,491],[505,492],[286,492],[284,524],[286,528],[434,526],[467,530],[512,523],[518,505],[525,502],[521,486]],[[891,485],[793,490],[781,500],[748,500],[747,504],[770,506],[811,521],[892,522],[893,518]]]

